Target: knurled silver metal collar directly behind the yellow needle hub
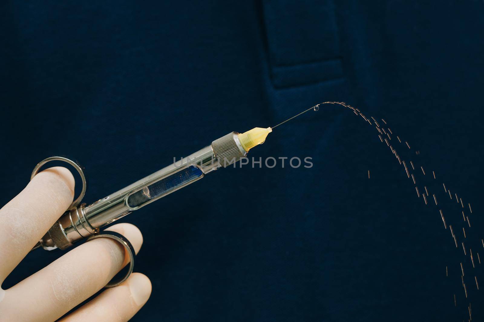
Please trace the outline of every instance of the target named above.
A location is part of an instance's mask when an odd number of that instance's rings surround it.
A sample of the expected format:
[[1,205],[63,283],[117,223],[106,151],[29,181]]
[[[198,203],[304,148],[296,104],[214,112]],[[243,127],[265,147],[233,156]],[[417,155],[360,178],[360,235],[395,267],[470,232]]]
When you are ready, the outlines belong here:
[[230,132],[212,142],[212,149],[220,165],[224,168],[239,161],[247,152],[239,141],[239,133]]

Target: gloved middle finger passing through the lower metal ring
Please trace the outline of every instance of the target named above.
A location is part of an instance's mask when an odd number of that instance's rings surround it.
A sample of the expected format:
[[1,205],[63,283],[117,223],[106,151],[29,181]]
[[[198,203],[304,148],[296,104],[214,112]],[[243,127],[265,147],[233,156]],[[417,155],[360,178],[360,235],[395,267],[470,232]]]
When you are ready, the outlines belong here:
[[[141,248],[136,226],[116,224],[109,230],[124,235],[135,252]],[[112,238],[90,240],[6,290],[1,304],[15,312],[15,321],[55,321],[104,287],[127,263],[125,257]]]

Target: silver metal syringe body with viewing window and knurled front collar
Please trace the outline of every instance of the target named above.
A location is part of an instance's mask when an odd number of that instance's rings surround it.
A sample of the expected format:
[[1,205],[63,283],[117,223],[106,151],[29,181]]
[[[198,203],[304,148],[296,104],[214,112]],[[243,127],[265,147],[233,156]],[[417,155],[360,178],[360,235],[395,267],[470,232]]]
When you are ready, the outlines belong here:
[[240,160],[247,152],[237,132],[231,132],[129,186],[88,206],[82,204],[66,211],[40,240],[46,250],[66,249],[134,210],[146,206],[221,167]]

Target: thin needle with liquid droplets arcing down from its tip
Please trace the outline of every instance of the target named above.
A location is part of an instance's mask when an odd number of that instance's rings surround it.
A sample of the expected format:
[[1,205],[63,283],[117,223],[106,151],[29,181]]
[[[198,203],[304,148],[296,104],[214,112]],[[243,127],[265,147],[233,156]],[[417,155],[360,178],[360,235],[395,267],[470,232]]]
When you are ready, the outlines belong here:
[[[375,127],[375,130],[377,131],[377,135],[380,142],[384,143],[388,147],[389,151],[392,152],[392,154],[395,157],[395,161],[398,162],[399,165],[402,167],[402,169],[404,170],[404,173],[408,177],[409,182],[415,186],[417,197],[420,198],[420,200],[422,200],[422,203],[425,207],[435,207],[436,216],[439,216],[441,218],[441,229],[445,229],[449,231],[449,235],[448,235],[450,238],[449,242],[455,245],[456,251],[459,251],[459,248],[460,248],[459,256],[464,257],[464,259],[461,262],[456,262],[454,264],[449,263],[449,265],[445,267],[445,278],[447,279],[457,278],[459,281],[459,284],[462,284],[460,293],[455,293],[455,292],[450,293],[449,304],[450,305],[454,304],[452,306],[457,307],[457,304],[459,303],[459,299],[461,303],[468,303],[468,305],[466,304],[467,307],[465,309],[466,309],[466,315],[467,313],[469,313],[469,316],[466,317],[466,320],[469,319],[469,321],[471,321],[472,309],[471,309],[471,303],[469,298],[469,287],[473,287],[475,291],[479,290],[479,283],[478,283],[479,279],[478,279],[478,273],[477,273],[478,271],[476,270],[476,268],[477,266],[480,266],[481,259],[480,259],[479,252],[472,251],[472,249],[478,249],[478,247],[472,247],[472,248],[467,247],[468,245],[471,244],[471,240],[469,238],[469,234],[471,232],[471,224],[469,221],[469,216],[472,214],[472,208],[470,203],[467,203],[466,205],[467,207],[465,207],[464,206],[465,204],[462,198],[458,197],[458,194],[455,192],[454,192],[454,196],[455,196],[455,199],[454,199],[453,194],[450,192],[448,187],[445,186],[444,183],[440,185],[440,189],[438,189],[437,187],[434,189],[430,188],[430,184],[434,186],[438,186],[437,184],[435,184],[436,182],[438,182],[435,171],[432,170],[431,173],[426,173],[426,172],[429,172],[430,170],[425,171],[426,167],[423,167],[423,165],[416,165],[414,164],[413,160],[405,160],[399,154],[398,151],[400,151],[400,149],[404,149],[407,153],[411,151],[411,145],[408,143],[408,141],[402,140],[398,135],[394,134],[394,132],[390,129],[390,127],[388,126],[387,122],[384,119],[380,119],[381,120],[381,123],[380,123],[373,116],[368,118],[359,109],[354,108],[351,105],[346,104],[345,102],[333,102],[333,101],[323,102],[313,106],[312,108],[304,112],[307,112],[309,110],[318,111],[319,106],[323,104],[341,105],[345,108],[348,108],[355,115],[362,117],[362,119],[366,124],[368,124],[369,126]],[[299,116],[302,113],[296,116]],[[293,119],[294,117],[288,119],[287,121]],[[284,121],[281,124],[284,124],[287,121]],[[277,126],[281,124],[278,124]],[[397,140],[395,140],[395,138]],[[420,151],[416,151],[415,154],[419,155]],[[418,175],[420,176],[420,178],[416,179]],[[370,178],[369,170],[368,170],[368,178]],[[430,181],[432,183],[424,185],[423,187],[420,186],[421,189],[419,189],[420,182],[424,182],[424,181]],[[430,198],[433,199],[433,201],[435,202],[435,205],[434,203],[429,202],[431,199],[427,199],[427,196],[431,196]],[[445,199],[445,198],[448,198],[448,199]],[[453,204],[453,205],[454,207],[458,207],[458,211],[455,211],[455,210],[448,211],[447,209],[442,210],[443,208],[442,208],[441,200],[444,200],[444,204],[445,204],[445,200],[447,200],[447,202],[450,202],[451,200],[452,201],[456,200],[456,204]],[[479,243],[479,245],[481,245],[482,243],[482,247],[484,249],[484,238],[477,238],[476,240]],[[464,274],[464,272],[466,272],[466,274]]]

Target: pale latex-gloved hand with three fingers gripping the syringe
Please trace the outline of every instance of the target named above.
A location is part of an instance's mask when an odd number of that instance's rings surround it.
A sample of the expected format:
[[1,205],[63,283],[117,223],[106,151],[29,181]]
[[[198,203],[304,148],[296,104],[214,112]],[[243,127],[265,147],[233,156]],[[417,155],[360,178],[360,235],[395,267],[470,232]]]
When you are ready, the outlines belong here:
[[[66,168],[48,168],[0,210],[0,285],[67,210],[74,178]],[[132,224],[116,224],[136,253],[143,237]],[[111,238],[96,238],[63,255],[8,290],[0,289],[0,321],[55,321],[105,286],[129,257]],[[128,321],[146,303],[151,282],[134,273],[61,321]]]

